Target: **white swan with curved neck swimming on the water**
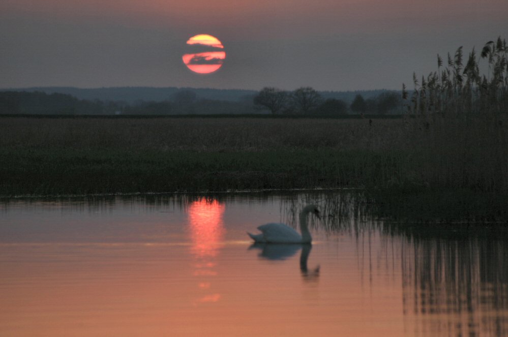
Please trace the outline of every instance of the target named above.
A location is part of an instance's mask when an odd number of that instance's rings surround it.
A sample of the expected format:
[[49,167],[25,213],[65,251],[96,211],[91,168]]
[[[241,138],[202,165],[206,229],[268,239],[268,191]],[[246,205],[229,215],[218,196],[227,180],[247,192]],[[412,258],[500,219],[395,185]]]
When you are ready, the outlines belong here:
[[300,212],[300,231],[302,235],[291,227],[270,223],[259,226],[261,234],[249,234],[256,243],[311,243],[312,237],[307,227],[307,215],[313,213],[319,219],[319,209],[316,205],[307,205]]

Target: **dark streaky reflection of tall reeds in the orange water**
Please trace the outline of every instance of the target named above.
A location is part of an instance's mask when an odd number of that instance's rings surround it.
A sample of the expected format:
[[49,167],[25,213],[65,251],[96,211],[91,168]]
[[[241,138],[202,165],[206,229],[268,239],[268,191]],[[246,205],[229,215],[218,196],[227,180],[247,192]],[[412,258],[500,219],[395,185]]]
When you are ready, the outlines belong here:
[[427,335],[508,333],[508,250],[502,240],[407,241],[404,316]]

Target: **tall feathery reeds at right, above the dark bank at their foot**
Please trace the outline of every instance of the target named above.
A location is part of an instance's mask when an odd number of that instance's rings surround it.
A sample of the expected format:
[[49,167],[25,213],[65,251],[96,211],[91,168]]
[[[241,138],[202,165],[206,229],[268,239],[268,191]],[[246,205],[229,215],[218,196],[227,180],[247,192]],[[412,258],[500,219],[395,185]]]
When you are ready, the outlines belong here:
[[[499,37],[464,62],[463,48],[422,77],[403,85],[408,142],[425,158],[419,174],[434,187],[508,191],[508,48]],[[480,69],[485,68],[486,73]]]

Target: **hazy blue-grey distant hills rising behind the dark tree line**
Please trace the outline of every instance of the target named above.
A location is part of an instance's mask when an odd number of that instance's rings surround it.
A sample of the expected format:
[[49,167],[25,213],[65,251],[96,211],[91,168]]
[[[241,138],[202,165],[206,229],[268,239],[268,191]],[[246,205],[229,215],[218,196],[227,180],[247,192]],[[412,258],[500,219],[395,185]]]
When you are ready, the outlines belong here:
[[[171,100],[172,96],[180,90],[193,91],[198,99],[217,101],[242,102],[257,94],[256,90],[243,89],[210,89],[210,88],[188,88],[188,87],[105,87],[82,89],[76,87],[28,87],[0,89],[0,91],[39,91],[46,94],[66,94],[80,100],[88,101],[112,101],[133,104],[139,101],[163,102]],[[357,90],[357,91],[319,91],[325,99],[335,98],[351,103],[356,95],[362,95],[365,99],[376,97],[388,90]]]

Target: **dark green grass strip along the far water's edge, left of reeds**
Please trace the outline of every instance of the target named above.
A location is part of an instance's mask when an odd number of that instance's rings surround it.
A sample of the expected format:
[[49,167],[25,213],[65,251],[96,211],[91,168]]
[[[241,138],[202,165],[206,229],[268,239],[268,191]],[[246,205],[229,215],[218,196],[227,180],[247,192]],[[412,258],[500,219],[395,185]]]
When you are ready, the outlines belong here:
[[369,151],[0,150],[4,196],[373,186],[396,160]]

